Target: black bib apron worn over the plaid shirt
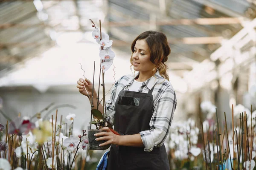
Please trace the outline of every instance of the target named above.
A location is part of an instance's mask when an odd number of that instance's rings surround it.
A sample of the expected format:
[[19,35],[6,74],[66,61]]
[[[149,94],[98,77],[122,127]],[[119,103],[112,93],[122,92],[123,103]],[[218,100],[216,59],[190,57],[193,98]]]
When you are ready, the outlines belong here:
[[[150,129],[153,89],[148,94],[124,91],[124,88],[120,91],[115,104],[114,130],[121,135],[132,135]],[[164,144],[151,152],[145,152],[144,147],[112,144],[107,170],[170,170],[170,167]]]

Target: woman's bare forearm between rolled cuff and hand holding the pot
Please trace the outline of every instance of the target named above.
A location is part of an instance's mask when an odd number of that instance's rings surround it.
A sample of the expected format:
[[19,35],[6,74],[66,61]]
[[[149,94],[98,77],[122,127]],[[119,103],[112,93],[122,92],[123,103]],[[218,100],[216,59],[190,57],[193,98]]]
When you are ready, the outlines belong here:
[[120,146],[144,147],[140,133],[134,135],[118,136],[118,144]]

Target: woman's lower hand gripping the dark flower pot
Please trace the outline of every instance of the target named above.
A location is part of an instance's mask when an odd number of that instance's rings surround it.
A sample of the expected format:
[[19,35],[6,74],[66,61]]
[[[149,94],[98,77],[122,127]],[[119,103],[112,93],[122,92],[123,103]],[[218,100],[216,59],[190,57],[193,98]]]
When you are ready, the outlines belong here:
[[108,144],[116,144],[119,145],[119,135],[114,134],[109,127],[103,127],[101,130],[105,130],[106,132],[95,133],[95,136],[100,136],[96,138],[96,141],[106,140],[106,142],[100,144],[99,146],[105,146]]

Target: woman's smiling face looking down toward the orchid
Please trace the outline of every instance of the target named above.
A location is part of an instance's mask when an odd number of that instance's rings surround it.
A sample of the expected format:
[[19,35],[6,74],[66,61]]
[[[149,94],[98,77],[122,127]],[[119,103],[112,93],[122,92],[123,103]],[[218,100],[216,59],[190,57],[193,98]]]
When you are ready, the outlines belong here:
[[150,72],[155,65],[150,61],[150,52],[145,40],[137,40],[132,54],[133,66],[135,71]]

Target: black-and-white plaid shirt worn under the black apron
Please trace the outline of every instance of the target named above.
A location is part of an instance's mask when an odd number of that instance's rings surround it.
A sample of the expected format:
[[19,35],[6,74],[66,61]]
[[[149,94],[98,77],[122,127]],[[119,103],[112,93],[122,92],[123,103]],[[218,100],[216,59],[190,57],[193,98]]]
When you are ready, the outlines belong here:
[[[177,101],[175,91],[169,81],[160,76],[157,71],[154,75],[139,88],[138,92],[148,93],[154,86],[153,95],[153,114],[149,122],[150,129],[140,132],[141,139],[145,146],[144,151],[150,152],[154,147],[160,147],[166,139],[172,123]],[[134,81],[132,75],[126,75],[116,81],[113,86],[111,97],[106,102],[107,112],[114,111],[116,99],[122,88],[129,90],[129,86]],[[108,117],[107,121],[114,125],[114,115]]]

